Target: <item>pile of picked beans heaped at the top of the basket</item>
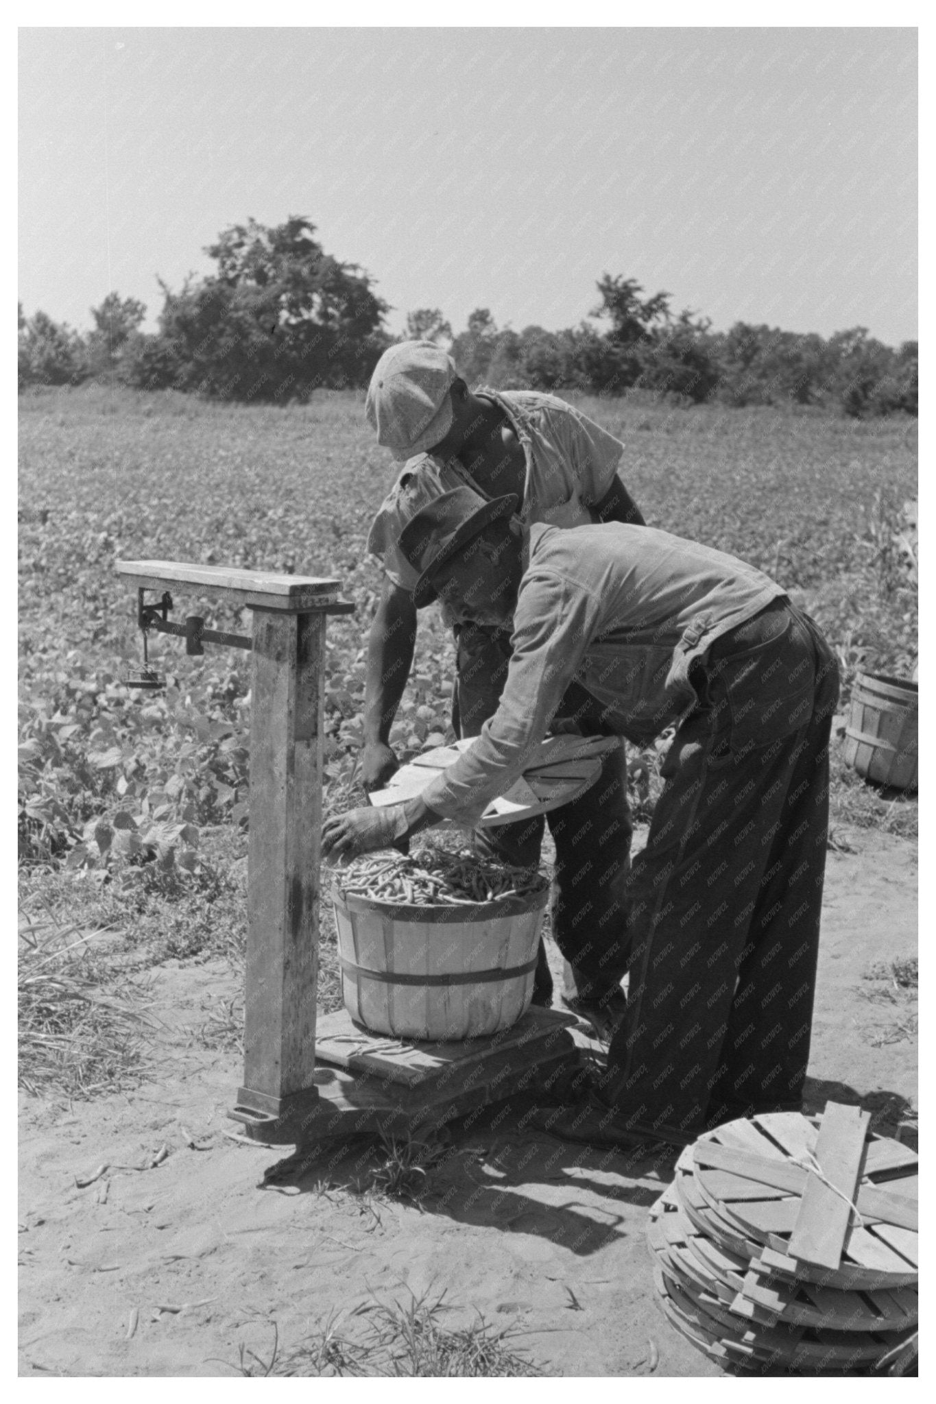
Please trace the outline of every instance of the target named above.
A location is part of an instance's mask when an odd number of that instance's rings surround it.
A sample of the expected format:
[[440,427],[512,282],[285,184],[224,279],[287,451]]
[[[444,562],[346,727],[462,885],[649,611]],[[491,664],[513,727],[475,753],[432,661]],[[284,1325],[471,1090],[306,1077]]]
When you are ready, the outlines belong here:
[[511,868],[464,848],[355,858],[337,876],[342,897],[407,903],[421,907],[473,906],[500,897],[529,897],[549,886],[535,868]]

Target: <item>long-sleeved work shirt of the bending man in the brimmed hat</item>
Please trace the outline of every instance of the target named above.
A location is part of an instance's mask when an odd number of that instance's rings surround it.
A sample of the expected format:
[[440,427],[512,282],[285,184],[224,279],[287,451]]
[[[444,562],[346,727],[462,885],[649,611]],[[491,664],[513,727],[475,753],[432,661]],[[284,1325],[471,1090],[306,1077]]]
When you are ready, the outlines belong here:
[[497,713],[422,792],[460,823],[521,775],[573,681],[598,699],[610,734],[646,746],[696,703],[692,660],[783,595],[754,566],[651,526],[533,524],[523,550]]

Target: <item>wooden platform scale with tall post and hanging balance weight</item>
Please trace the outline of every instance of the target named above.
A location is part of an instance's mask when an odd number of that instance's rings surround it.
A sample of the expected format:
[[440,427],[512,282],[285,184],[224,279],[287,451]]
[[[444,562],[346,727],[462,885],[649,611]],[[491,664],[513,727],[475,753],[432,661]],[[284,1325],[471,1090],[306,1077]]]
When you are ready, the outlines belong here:
[[[247,649],[251,664],[250,847],[244,1084],[229,1113],[246,1134],[305,1146],[349,1134],[425,1132],[578,1066],[575,1024],[532,1008],[512,1028],[457,1043],[372,1035],[347,1012],[316,1024],[326,619],[351,614],[340,581],[192,562],[118,560],[138,590],[145,665],[128,677],[159,688],[147,633]],[[159,600],[147,594],[159,592]],[[253,612],[253,636],[170,621],[171,591]]]

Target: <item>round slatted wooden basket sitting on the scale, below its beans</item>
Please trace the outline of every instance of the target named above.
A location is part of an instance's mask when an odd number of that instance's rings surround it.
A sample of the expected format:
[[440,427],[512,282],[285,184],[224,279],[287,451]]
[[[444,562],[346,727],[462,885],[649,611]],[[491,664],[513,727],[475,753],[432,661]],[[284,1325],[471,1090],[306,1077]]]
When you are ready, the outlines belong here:
[[533,997],[549,882],[522,897],[418,906],[333,887],[344,1005],[396,1038],[450,1042],[508,1029]]

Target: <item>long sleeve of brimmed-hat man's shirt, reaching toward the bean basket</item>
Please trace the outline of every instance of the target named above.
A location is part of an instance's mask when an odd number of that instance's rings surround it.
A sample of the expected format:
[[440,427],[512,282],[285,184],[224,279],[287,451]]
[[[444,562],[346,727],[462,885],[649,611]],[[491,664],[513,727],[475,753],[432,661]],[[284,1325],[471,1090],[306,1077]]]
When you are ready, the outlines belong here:
[[514,614],[511,663],[497,712],[474,746],[422,792],[443,819],[476,824],[529,765],[592,637],[599,601],[560,576],[526,577]]

